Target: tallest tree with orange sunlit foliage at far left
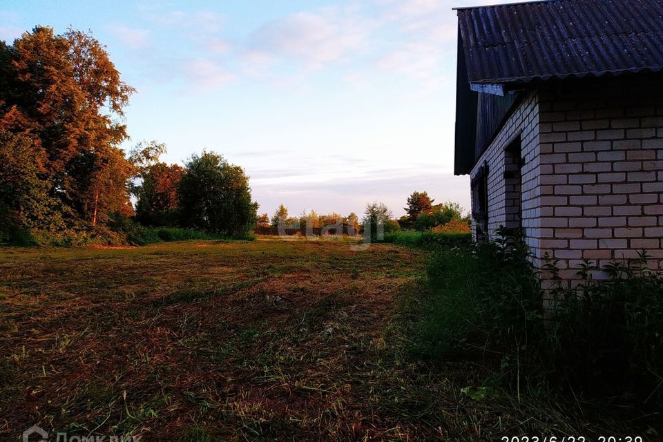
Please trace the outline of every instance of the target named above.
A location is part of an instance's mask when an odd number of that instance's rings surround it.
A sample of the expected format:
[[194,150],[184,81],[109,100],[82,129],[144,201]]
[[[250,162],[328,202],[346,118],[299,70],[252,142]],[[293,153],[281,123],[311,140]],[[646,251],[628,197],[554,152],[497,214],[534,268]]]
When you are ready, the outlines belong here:
[[[133,166],[119,143],[127,138],[122,119],[133,88],[97,39],[38,26],[12,46],[2,43],[0,86],[0,131],[30,140],[37,178],[48,187],[45,204],[58,207],[66,227],[126,211]],[[12,146],[22,144],[2,148]],[[55,218],[42,222],[57,228]]]

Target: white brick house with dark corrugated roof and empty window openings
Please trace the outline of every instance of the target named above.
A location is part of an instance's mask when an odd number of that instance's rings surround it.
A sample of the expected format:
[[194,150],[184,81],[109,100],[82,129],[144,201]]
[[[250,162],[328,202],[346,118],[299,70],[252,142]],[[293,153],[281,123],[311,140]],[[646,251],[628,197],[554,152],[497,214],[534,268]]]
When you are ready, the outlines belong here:
[[[523,229],[535,265],[663,269],[663,0],[459,8],[456,175],[472,231]],[[602,278],[596,272],[595,278]]]

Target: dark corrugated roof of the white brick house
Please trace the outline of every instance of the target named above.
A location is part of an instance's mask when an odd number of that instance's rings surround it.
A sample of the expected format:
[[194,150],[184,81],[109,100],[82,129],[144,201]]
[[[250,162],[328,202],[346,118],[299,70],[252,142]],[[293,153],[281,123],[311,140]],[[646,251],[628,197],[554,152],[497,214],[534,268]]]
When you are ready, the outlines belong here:
[[663,68],[663,0],[553,0],[458,10],[473,84]]

